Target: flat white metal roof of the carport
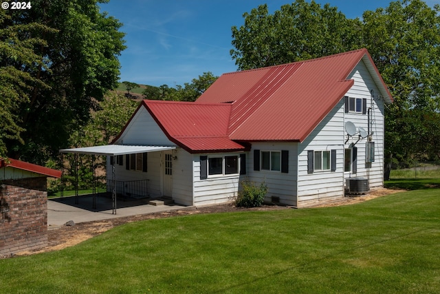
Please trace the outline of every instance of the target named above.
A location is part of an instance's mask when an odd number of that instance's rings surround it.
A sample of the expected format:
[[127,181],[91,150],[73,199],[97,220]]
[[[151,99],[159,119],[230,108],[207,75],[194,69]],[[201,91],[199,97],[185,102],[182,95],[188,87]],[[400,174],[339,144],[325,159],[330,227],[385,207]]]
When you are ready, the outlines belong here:
[[154,146],[154,145],[102,145],[91,147],[80,147],[61,149],[61,153],[74,153],[74,154],[94,154],[103,156],[117,156],[124,154],[136,154],[144,152],[164,151],[176,149],[175,146]]

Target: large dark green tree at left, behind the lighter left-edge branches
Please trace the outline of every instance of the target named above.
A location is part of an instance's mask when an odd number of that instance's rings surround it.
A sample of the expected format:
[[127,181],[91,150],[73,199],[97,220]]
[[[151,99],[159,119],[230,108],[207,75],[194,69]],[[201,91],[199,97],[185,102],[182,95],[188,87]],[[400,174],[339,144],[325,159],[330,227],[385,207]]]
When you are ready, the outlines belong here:
[[[28,99],[11,110],[24,142],[6,140],[11,156],[43,163],[57,154],[71,132],[89,121],[96,101],[117,85],[124,34],[117,19],[100,12],[98,2],[35,0],[32,9],[7,10],[1,28],[17,28],[23,43],[39,40],[30,46],[38,57],[32,66],[14,56],[1,60],[1,67],[14,67],[35,81],[20,87]],[[33,23],[49,30],[26,27]]]

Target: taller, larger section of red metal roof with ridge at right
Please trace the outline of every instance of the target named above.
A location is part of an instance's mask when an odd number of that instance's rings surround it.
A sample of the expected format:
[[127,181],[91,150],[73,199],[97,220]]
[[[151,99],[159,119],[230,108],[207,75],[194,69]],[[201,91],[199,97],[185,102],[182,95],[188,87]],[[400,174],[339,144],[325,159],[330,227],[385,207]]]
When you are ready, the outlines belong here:
[[301,142],[353,85],[347,80],[360,61],[366,63],[383,96],[384,81],[366,49],[320,59],[223,74],[196,103],[234,101],[231,140]]

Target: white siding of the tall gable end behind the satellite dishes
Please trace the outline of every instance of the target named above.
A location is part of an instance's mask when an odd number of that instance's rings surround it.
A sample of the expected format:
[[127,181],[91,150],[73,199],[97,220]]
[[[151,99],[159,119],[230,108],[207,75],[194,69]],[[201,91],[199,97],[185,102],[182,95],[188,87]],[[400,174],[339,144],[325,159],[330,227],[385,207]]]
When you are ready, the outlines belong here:
[[[360,140],[356,147],[358,147],[358,172],[357,174],[345,174],[345,177],[350,176],[362,177],[369,179],[370,188],[382,187],[384,185],[384,99],[379,96],[373,78],[363,61],[361,61],[349,75],[349,78],[355,80],[353,87],[347,92],[347,96],[354,98],[366,98],[367,108],[371,107],[371,128],[373,132],[373,142],[375,142],[375,162],[372,162],[371,168],[365,162],[365,143],[366,138]],[[374,98],[371,98],[371,90],[374,90]],[[368,129],[367,114],[345,114],[345,121],[350,120],[356,127],[363,127]],[[355,143],[358,140],[358,135],[351,138],[345,147],[349,147],[350,143]]]

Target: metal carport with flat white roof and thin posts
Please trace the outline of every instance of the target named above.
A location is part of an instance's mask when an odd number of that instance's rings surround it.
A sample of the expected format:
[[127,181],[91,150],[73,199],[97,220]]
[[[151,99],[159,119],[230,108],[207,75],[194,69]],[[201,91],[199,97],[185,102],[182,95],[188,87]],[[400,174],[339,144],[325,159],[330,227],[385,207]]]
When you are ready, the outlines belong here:
[[[112,214],[116,214],[116,169],[115,169],[115,156],[138,154],[146,152],[157,152],[176,149],[175,146],[156,146],[156,145],[102,145],[102,146],[92,146],[92,147],[80,147],[71,149],[61,149],[61,166],[64,167],[63,154],[74,154],[75,155],[75,169],[76,169],[76,204],[78,204],[78,154],[86,154],[92,156],[93,162],[95,162],[96,156],[111,156],[111,198],[113,211]],[[94,165],[95,166],[95,165]],[[109,171],[107,171],[108,173]],[[109,178],[107,176],[107,178]],[[63,178],[62,178],[63,182]],[[97,193],[94,189],[94,201],[93,208],[96,209],[96,196]]]

